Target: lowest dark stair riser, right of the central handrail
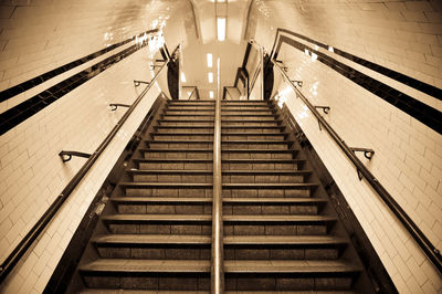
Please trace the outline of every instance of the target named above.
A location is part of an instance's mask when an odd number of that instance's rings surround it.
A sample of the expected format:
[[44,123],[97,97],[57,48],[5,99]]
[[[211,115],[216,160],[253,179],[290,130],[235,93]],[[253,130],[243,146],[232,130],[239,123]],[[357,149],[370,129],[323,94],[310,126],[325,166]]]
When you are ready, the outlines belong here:
[[293,277],[297,274],[284,277],[260,277],[238,276],[225,277],[227,291],[327,291],[349,290],[351,277]]

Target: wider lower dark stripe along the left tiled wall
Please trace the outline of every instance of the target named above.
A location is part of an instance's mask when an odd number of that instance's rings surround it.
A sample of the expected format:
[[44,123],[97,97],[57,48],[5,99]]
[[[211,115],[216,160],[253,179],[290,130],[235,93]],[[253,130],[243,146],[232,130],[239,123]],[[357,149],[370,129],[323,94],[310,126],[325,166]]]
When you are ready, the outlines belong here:
[[0,136],[143,46],[131,45],[0,114]]

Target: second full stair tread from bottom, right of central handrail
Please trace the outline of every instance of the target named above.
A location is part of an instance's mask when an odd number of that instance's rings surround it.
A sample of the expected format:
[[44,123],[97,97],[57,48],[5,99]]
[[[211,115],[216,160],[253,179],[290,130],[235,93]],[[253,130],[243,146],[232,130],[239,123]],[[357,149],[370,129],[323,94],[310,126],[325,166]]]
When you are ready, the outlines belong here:
[[290,244],[290,245],[333,245],[347,244],[344,238],[330,235],[227,235],[224,244]]

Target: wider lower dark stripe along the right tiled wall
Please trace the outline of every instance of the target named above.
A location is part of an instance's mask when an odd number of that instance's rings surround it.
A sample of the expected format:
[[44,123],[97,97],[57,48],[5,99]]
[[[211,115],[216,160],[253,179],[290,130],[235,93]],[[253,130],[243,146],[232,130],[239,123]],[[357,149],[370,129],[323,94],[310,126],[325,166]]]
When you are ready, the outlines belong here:
[[[317,54],[317,61],[324,63],[332,70],[340,73],[345,77],[351,80],[359,86],[366,88],[367,91],[371,92],[372,94],[379,96],[383,101],[390,103],[391,105],[398,107],[402,112],[411,115],[425,126],[432,128],[433,130],[438,132],[439,134],[442,134],[442,113],[439,112],[438,109],[434,109],[433,107],[402,93],[397,91],[393,87],[390,87],[389,85],[386,85],[359,71],[356,71],[355,69],[340,63],[336,61],[335,59],[320,53],[296,40],[293,40],[288,36],[281,36],[280,42],[277,44],[276,51],[280,52],[281,45],[283,43],[286,43],[295,49],[298,49],[301,52],[304,53],[305,49],[307,49],[311,52],[314,52]],[[276,53],[277,55],[277,53]],[[276,56],[275,55],[275,56]]]

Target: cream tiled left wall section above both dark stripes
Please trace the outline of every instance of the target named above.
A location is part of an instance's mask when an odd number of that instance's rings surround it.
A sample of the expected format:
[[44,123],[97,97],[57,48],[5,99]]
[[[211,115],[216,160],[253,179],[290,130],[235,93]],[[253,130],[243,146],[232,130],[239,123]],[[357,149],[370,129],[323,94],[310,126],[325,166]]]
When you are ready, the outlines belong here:
[[[0,91],[167,24],[188,9],[187,1],[2,0]],[[185,38],[172,34],[176,42]]]

